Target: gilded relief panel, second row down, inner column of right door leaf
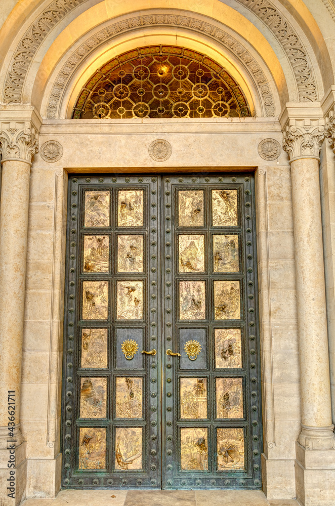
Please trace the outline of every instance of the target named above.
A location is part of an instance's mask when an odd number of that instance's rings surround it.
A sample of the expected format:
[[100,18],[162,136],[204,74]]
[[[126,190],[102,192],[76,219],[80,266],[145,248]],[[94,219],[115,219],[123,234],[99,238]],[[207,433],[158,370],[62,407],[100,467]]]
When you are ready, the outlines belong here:
[[179,272],[204,272],[203,235],[179,236]]

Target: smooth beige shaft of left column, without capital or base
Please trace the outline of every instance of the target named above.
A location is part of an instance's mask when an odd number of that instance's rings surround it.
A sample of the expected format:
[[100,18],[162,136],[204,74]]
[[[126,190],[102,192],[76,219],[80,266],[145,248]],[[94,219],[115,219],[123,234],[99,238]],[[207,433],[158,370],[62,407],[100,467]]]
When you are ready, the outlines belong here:
[[[29,162],[3,163],[0,205],[0,426],[8,425],[7,396],[15,391],[20,420],[21,361],[27,256]],[[16,443],[19,444],[19,441]]]

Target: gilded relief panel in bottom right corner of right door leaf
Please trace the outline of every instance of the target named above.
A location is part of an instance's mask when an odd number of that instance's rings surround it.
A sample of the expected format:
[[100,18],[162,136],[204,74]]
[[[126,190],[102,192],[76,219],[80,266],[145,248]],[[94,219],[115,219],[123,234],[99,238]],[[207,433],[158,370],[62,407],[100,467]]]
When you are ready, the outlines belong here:
[[244,435],[242,428],[217,429],[218,471],[244,469]]

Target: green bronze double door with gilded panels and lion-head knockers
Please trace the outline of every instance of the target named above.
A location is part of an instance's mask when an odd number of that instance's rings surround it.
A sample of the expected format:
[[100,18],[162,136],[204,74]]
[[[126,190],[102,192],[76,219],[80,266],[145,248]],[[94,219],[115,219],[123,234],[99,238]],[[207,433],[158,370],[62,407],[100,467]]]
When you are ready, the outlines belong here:
[[251,174],[71,176],[64,488],[255,489]]

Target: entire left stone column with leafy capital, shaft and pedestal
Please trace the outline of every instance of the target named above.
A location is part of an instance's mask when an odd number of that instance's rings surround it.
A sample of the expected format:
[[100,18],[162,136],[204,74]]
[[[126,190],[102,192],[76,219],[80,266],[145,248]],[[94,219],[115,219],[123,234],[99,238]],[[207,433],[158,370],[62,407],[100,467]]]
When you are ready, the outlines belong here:
[[[0,469],[0,495],[9,498],[7,479],[10,469],[8,446],[18,447],[15,454],[15,503],[21,494],[17,468],[25,458],[20,431],[20,391],[23,341],[24,297],[27,255],[29,176],[31,159],[37,152],[35,130],[29,122],[0,124],[2,154],[2,191],[0,202],[0,451],[5,466]],[[8,430],[8,392],[14,393],[14,437]],[[8,442],[8,441],[11,442]],[[21,448],[20,448],[21,447]],[[5,485],[5,489],[4,489]],[[7,485],[7,486],[6,486]],[[23,488],[23,487],[21,487]],[[25,487],[24,487],[25,489]],[[24,493],[24,489],[22,493]],[[3,495],[4,494],[4,495]],[[21,494],[22,496],[22,494]],[[6,500],[8,502],[6,502]]]

